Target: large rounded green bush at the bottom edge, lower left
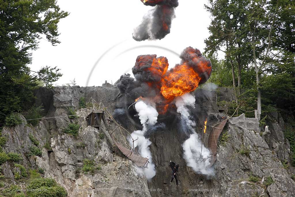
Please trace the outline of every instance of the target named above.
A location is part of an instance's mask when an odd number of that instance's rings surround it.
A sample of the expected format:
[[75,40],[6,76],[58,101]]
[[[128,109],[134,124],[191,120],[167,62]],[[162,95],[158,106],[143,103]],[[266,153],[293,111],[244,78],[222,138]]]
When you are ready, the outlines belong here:
[[28,197],[65,197],[67,192],[51,178],[32,180],[27,186]]

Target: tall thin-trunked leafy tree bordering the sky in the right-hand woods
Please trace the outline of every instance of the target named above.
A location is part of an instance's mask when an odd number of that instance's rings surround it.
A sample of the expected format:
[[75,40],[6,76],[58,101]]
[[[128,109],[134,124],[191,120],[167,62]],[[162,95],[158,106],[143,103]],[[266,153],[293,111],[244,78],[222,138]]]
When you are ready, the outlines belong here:
[[212,16],[208,28],[211,35],[205,40],[205,52],[209,53],[209,56],[218,51],[225,53],[225,61],[231,67],[236,98],[241,94],[242,67],[249,64],[250,47],[245,44],[248,38],[245,36],[244,14],[248,3],[249,1],[210,0],[209,5],[205,5]]

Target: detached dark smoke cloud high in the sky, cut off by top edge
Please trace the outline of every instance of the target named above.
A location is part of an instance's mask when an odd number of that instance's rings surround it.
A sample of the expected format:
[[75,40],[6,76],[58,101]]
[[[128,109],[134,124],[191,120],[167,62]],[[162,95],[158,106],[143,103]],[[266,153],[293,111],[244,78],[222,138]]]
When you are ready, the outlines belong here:
[[155,6],[142,18],[141,24],[135,28],[133,39],[157,40],[170,33],[172,19],[175,18],[174,9],[178,0],[141,0],[146,6]]

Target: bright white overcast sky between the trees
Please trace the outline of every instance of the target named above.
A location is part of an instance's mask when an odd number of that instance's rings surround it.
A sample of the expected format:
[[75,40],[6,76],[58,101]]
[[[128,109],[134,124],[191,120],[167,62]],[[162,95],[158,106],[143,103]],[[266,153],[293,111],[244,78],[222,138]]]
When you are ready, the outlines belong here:
[[[177,53],[192,46],[203,52],[210,24],[204,4],[207,4],[206,0],[179,0],[171,33],[162,40],[137,42],[132,39],[133,29],[140,24],[143,15],[152,9],[140,0],[58,0],[61,9],[70,12],[58,24],[61,43],[52,46],[41,39],[40,48],[32,53],[30,67],[37,71],[42,66],[58,66],[63,76],[56,84],[66,84],[75,78],[77,85],[86,86],[91,68],[98,58],[119,43],[96,65],[88,86],[100,86],[105,80],[114,83],[122,74],[131,73],[138,55],[165,56],[171,68],[180,62],[178,56],[144,45],[162,46]],[[137,46],[142,47],[124,52]]]

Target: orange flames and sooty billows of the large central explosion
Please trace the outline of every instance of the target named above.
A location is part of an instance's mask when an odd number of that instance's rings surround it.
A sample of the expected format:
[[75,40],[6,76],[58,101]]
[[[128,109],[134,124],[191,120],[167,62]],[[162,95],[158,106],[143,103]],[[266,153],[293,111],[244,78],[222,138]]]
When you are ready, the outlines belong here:
[[[176,64],[168,70],[167,58],[142,55],[137,57],[132,69],[134,74],[142,77],[139,80],[154,90],[153,101],[157,103],[159,114],[166,113],[175,97],[194,91],[200,83],[206,82],[211,74],[211,63],[199,50],[188,47],[181,58],[181,64]],[[137,100],[138,98],[135,101]]]

